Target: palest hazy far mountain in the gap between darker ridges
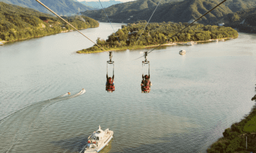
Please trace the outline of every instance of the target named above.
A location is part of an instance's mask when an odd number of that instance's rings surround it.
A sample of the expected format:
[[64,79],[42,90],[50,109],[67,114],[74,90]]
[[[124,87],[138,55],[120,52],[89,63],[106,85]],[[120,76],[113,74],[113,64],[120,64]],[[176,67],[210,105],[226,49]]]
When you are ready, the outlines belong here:
[[[75,0],[77,1],[77,0]],[[112,6],[114,4],[120,4],[122,3],[121,1],[115,1],[115,0],[111,0],[111,1],[100,1],[102,6],[104,8],[108,8],[109,6]],[[96,10],[101,9],[101,5],[99,3],[99,1],[81,1],[80,3],[86,5],[86,6],[92,6],[93,8],[95,8]]]

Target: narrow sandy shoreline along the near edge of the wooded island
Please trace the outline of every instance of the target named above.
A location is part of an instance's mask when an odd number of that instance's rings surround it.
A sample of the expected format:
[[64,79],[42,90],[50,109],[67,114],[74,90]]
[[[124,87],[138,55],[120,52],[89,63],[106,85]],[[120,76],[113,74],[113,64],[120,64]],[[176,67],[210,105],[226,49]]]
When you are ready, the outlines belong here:
[[[238,38],[238,36],[236,37],[230,37],[230,38],[220,38],[220,39],[214,39],[214,40],[205,40],[205,41],[185,41],[185,42],[182,42],[182,41],[179,41],[179,42],[174,42],[174,43],[165,43],[161,46],[172,46],[172,45],[185,45],[186,43],[188,42],[195,42],[195,43],[204,43],[204,42],[214,42],[216,40],[232,40],[232,39],[235,39],[235,38]],[[152,48],[152,47],[157,47],[159,45],[151,45],[151,46],[132,46],[132,47],[124,47],[124,48],[111,48],[109,50],[106,50],[106,51],[109,51],[109,52],[113,52],[113,51],[124,51],[124,50],[127,50],[127,49],[143,49],[143,48]],[[86,48],[87,49],[87,48]],[[86,50],[86,49],[83,49],[83,50]],[[96,50],[96,51],[91,51],[91,52],[83,52],[83,50],[78,50],[76,51],[77,54],[91,54],[91,53],[99,53],[99,52],[105,52],[104,50]]]

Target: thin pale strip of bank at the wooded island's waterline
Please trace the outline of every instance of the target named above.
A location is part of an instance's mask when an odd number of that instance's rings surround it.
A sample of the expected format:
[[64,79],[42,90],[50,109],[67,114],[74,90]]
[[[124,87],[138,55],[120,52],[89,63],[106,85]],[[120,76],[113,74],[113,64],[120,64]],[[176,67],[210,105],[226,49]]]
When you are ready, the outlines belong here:
[[[214,40],[206,40],[206,41],[179,41],[179,42],[175,42],[175,43],[166,43],[166,44],[163,44],[161,46],[172,46],[172,45],[186,45],[186,43],[189,43],[189,42],[193,42],[193,43],[205,43],[205,42],[212,42],[212,41],[221,41],[221,40],[232,40],[232,39],[235,39],[235,38],[238,38],[238,36],[236,37],[231,37],[231,38],[221,38],[221,39],[214,39]],[[132,46],[132,47],[121,47],[121,48],[104,48],[106,51],[123,51],[123,50],[134,50],[134,49],[144,49],[144,48],[153,48],[153,47],[157,47],[159,46],[160,44],[158,45],[148,45],[148,46]],[[90,50],[90,48],[94,49],[95,51],[93,50]],[[104,50],[98,50],[100,48],[98,47],[90,47],[90,48],[86,48],[86,49],[83,49],[83,50],[78,50],[76,53],[78,54],[90,54],[90,53],[99,53],[99,52],[104,52]]]

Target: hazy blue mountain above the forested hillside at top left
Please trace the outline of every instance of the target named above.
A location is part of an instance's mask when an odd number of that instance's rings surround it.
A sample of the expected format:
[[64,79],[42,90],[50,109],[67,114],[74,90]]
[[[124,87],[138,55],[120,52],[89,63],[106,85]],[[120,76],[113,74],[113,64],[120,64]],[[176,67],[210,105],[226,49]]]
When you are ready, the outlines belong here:
[[[7,4],[15,4],[17,6],[25,8],[33,8],[35,10],[51,13],[44,6],[36,2],[35,0],[0,0],[1,2]],[[59,15],[74,15],[80,11],[93,10],[90,6],[85,6],[74,0],[41,0],[46,6],[51,8],[52,11],[58,13]],[[52,14],[52,13],[51,13]]]

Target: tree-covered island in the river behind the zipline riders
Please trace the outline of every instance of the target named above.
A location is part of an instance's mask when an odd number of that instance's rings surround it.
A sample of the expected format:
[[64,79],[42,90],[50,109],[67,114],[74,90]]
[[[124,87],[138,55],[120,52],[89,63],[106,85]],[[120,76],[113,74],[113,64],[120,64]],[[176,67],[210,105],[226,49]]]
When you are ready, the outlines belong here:
[[[181,33],[177,34],[177,36],[168,39],[167,41],[167,38],[170,38],[173,34],[186,27],[188,23],[150,23],[143,32],[146,24],[146,21],[137,21],[132,24],[122,25],[122,29],[118,29],[116,34],[112,33],[108,36],[107,40],[98,38],[97,45],[105,50],[125,50],[132,48],[145,48],[162,43],[163,45],[171,45],[177,42],[209,41],[221,38],[236,38],[238,36],[237,31],[231,27],[193,24]],[[138,40],[139,37],[140,40]],[[97,45],[79,50],[77,53],[102,52],[102,49],[97,47]]]

